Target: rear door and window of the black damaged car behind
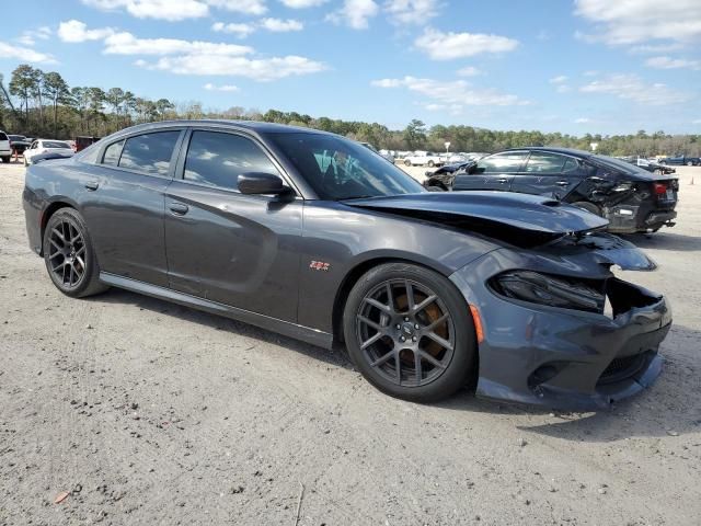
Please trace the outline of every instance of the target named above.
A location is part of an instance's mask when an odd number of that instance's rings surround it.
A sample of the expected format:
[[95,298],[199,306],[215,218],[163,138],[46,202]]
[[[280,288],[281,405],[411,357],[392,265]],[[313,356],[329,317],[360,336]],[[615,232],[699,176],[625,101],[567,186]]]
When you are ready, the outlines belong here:
[[513,192],[562,199],[582,181],[579,161],[550,151],[531,151],[521,172],[514,176]]

